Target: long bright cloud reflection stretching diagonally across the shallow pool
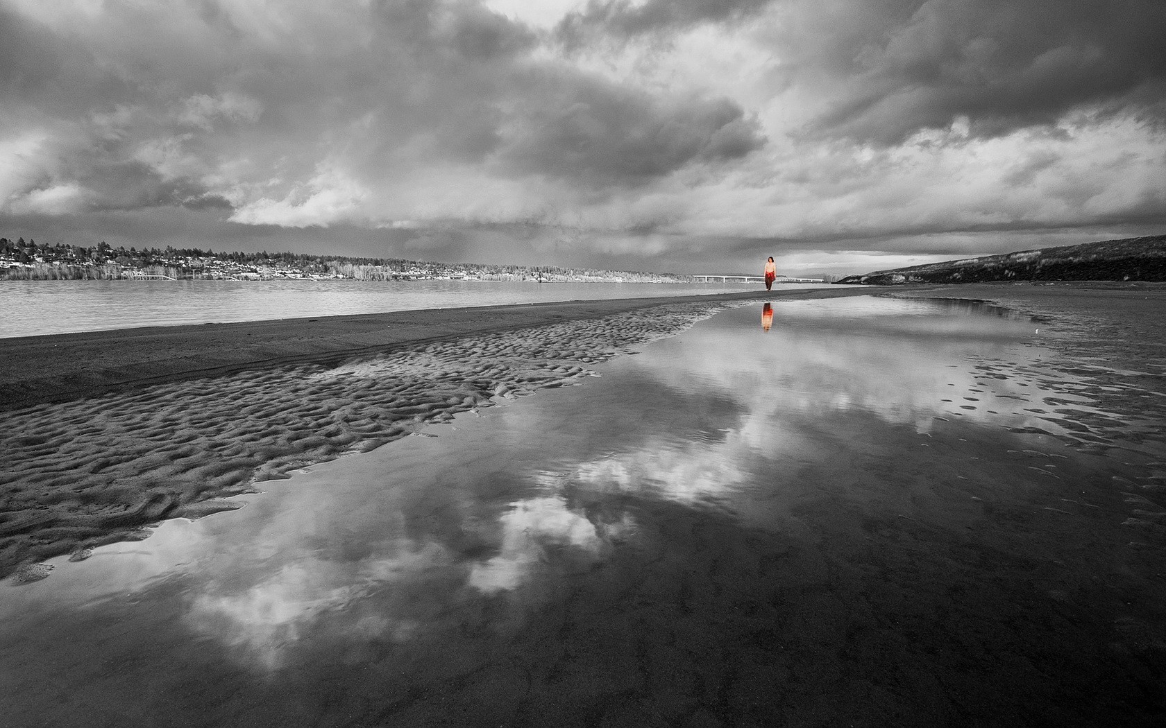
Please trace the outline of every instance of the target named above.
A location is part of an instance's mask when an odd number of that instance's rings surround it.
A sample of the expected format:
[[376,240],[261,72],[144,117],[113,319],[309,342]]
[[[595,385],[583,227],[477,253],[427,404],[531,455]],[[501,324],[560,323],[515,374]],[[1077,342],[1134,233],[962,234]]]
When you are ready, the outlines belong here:
[[[241,511],[163,524],[142,553],[62,566],[40,588],[100,572],[110,584],[86,588],[178,599],[176,624],[261,672],[378,641],[456,643],[483,605],[491,629],[521,622],[556,599],[548,584],[649,539],[652,503],[780,517],[801,468],[879,446],[858,415],[919,431],[955,412],[1027,418],[1013,400],[991,414],[990,400],[1035,386],[995,380],[992,393],[970,366],[1012,356],[1031,338],[1023,320],[782,302],[763,332],[758,309],[612,360],[585,386],[463,416],[456,434],[436,427],[271,483]],[[981,402],[961,410],[964,396]]]

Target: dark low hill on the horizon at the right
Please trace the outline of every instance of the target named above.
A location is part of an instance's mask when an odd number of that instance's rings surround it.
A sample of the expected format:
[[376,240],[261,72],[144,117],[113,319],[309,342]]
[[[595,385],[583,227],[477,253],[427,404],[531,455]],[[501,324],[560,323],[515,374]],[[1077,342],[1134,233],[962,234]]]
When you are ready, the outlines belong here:
[[986,283],[990,281],[1166,281],[1166,235],[1125,238],[876,270],[838,283]]

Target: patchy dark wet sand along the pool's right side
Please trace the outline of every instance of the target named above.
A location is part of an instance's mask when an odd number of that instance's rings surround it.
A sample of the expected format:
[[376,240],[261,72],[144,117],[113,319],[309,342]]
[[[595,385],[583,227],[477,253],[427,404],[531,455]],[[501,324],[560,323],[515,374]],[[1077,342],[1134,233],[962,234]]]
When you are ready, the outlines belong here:
[[[1027,426],[1011,426],[1011,431],[1049,436],[1121,467],[1129,478],[1114,475],[1110,488],[1128,496],[1121,523],[1135,539],[1131,545],[1149,549],[1153,544],[1160,550],[1166,537],[1166,306],[1161,297],[1028,287],[993,294],[1002,310],[1034,317],[1044,330],[1055,333],[1030,344],[1025,356],[978,358],[972,365],[977,384],[998,400],[1016,401],[1019,411],[1031,415]],[[1030,394],[997,393],[995,383],[1002,380]],[[1080,473],[1058,475],[1048,468],[1055,466],[1030,467],[1075,489],[1081,485]]]

